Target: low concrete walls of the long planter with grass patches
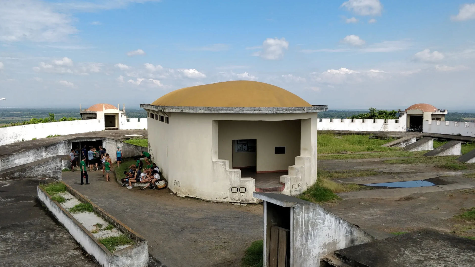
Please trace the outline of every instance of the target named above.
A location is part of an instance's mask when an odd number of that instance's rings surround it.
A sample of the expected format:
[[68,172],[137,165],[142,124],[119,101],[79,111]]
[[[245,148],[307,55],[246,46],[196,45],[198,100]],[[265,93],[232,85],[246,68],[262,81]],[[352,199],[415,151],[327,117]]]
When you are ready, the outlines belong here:
[[[132,231],[132,229],[123,225],[107,212],[97,207],[91,201],[85,199],[83,195],[66,185],[68,191],[79,201],[89,202],[93,205],[95,213],[101,218],[111,223],[123,234],[135,240],[137,243],[111,253],[104,247],[85,227],[78,222],[67,210],[59,203],[51,200],[51,196],[38,186],[38,199],[45,204],[56,219],[69,231],[71,236],[76,239],[79,245],[103,267],[147,267],[148,266],[148,247],[147,241]],[[99,212],[98,212],[99,211]]]

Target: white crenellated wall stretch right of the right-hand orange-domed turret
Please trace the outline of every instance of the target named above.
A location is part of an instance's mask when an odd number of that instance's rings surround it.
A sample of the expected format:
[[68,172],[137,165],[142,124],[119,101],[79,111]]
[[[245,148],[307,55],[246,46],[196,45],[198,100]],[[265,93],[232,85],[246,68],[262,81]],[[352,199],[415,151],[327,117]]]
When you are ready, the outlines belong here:
[[475,137],[475,123],[425,120],[422,126],[424,133]]

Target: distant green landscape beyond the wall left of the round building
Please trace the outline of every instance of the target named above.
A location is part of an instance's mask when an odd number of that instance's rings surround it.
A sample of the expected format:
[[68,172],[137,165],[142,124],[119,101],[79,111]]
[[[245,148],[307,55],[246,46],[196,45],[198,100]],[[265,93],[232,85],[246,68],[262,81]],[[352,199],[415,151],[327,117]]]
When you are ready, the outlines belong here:
[[[62,117],[81,118],[79,108],[0,108],[0,126],[26,122],[31,119],[44,119],[50,113],[55,114],[58,120]],[[129,118],[147,117],[147,112],[141,108],[125,109],[125,114]]]

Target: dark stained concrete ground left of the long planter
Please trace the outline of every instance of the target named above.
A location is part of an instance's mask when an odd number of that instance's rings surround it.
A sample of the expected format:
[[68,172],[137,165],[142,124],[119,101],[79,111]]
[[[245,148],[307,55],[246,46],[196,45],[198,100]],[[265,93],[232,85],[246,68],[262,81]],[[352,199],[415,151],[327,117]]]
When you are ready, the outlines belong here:
[[98,267],[35,200],[39,181],[0,181],[0,266]]

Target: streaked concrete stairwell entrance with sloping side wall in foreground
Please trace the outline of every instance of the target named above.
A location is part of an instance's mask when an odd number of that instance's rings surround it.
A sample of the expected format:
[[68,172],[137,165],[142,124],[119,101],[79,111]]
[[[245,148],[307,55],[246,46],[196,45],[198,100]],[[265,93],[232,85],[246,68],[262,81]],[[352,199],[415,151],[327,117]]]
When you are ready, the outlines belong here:
[[[253,195],[265,201],[264,255],[269,255],[267,248],[270,247],[271,227],[290,229],[292,233],[290,243],[293,244],[290,248],[292,266],[319,266],[323,256],[337,249],[376,240],[316,203],[283,194],[254,192]],[[281,207],[293,209],[289,209],[290,214],[285,216],[281,212]],[[289,220],[290,225],[285,225],[285,219]],[[266,266],[269,266],[267,261],[264,263],[264,267]]]

